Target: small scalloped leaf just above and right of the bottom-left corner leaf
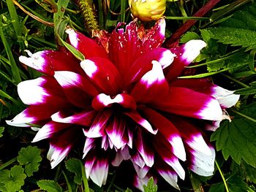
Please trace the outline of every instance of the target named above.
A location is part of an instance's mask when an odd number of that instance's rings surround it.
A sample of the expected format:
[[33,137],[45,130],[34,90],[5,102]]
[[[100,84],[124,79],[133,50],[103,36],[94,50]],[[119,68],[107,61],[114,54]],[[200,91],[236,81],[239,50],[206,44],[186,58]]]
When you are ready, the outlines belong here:
[[40,156],[41,150],[37,147],[21,148],[18,153],[18,162],[20,165],[25,165],[25,172],[30,177],[33,172],[37,172],[39,169],[42,157]]

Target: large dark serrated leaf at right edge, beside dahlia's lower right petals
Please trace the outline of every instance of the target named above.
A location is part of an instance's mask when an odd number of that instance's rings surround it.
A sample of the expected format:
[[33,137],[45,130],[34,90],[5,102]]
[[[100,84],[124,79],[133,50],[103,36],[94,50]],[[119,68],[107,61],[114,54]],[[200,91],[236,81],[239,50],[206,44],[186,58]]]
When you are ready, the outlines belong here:
[[216,141],[217,150],[222,150],[225,160],[231,156],[237,164],[244,159],[256,167],[256,103],[245,106],[239,114],[231,122],[221,123],[211,141]]

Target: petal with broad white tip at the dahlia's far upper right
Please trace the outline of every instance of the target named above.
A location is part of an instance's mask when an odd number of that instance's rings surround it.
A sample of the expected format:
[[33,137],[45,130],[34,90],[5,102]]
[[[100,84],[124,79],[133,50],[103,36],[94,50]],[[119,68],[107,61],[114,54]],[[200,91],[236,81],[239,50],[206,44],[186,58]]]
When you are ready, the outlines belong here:
[[170,51],[176,55],[173,64],[171,64],[165,71],[165,77],[168,82],[176,80],[176,78],[181,75],[184,66],[188,66],[191,62],[197,58],[200,54],[200,50],[206,47],[206,42],[202,40],[190,40],[189,42],[181,45],[180,47],[175,47],[170,49]]

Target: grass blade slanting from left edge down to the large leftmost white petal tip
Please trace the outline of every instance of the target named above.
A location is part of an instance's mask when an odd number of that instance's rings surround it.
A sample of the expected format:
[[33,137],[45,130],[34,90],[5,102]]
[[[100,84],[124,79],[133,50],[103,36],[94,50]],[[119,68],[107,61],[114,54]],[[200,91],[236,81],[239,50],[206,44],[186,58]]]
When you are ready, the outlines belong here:
[[0,19],[0,37],[1,37],[1,42],[3,42],[3,45],[4,45],[4,50],[7,53],[7,56],[10,60],[11,69],[12,69],[12,77],[14,78],[15,83],[18,84],[18,82],[21,81],[19,69],[18,69],[18,66],[16,65],[15,59],[12,55],[12,50],[7,42],[7,39],[4,36],[3,23],[1,22],[1,19]]

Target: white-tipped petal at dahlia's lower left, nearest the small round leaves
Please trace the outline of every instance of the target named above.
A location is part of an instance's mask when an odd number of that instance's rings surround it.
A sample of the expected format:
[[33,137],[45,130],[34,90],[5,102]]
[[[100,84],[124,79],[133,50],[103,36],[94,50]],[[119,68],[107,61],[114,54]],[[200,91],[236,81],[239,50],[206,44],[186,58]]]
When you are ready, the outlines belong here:
[[50,160],[52,169],[67,156],[80,135],[78,132],[78,128],[67,128],[61,134],[56,134],[50,138],[50,148],[47,158]]

